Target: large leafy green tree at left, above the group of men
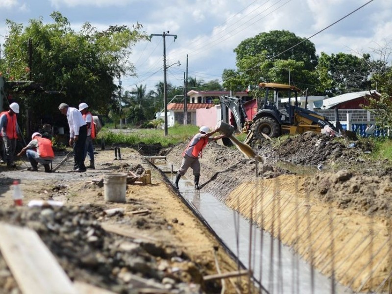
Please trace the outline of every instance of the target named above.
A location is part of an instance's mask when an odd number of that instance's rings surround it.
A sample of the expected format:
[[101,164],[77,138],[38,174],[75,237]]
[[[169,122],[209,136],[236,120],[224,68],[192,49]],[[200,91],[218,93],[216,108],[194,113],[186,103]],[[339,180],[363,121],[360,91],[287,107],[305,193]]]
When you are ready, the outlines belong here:
[[[7,20],[9,35],[5,39],[1,66],[8,66],[9,76],[25,79],[31,39],[34,82],[42,84],[46,90],[61,91],[66,95],[64,101],[70,105],[84,101],[101,113],[107,113],[109,105],[117,111],[119,89],[114,80],[121,75],[135,74],[134,66],[128,60],[131,48],[147,38],[142,25],[136,24],[132,28],[115,25],[98,31],[85,23],[75,32],[59,12],[53,12],[50,17],[53,23],[44,23],[39,18],[30,20],[26,27]],[[54,105],[50,104],[53,100],[48,97],[31,99],[26,106],[46,113],[54,111]]]

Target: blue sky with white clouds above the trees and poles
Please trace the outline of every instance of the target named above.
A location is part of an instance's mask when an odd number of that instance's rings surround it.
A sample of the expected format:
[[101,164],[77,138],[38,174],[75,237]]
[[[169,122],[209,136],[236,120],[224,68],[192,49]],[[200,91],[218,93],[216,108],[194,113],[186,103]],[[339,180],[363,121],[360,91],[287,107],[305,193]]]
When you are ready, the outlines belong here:
[[[370,3],[368,3],[370,2]],[[197,80],[220,79],[225,68],[235,68],[233,49],[246,38],[270,30],[289,30],[308,38],[360,6],[341,22],[310,40],[317,53],[370,51],[392,41],[391,0],[1,0],[0,43],[7,35],[5,20],[27,24],[59,11],[75,30],[89,22],[98,30],[109,25],[136,22],[148,34],[178,35],[166,38],[168,82],[183,85],[188,54],[188,76]],[[153,37],[133,50],[138,77],[123,77],[123,87],[153,89],[163,81],[163,38]]]

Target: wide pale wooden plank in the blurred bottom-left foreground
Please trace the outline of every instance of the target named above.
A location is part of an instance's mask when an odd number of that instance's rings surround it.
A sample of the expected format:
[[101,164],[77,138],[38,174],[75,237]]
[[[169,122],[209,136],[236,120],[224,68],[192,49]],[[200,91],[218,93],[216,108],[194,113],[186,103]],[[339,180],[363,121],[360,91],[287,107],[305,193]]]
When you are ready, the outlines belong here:
[[76,294],[76,289],[38,234],[0,222],[0,250],[24,294]]

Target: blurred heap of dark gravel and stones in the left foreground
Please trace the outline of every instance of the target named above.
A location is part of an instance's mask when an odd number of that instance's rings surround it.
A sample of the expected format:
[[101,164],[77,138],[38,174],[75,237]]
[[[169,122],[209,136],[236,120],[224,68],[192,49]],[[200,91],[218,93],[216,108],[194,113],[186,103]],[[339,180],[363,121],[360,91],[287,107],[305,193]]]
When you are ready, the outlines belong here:
[[[72,280],[87,281],[116,293],[140,287],[199,293],[201,272],[181,250],[106,232],[99,221],[123,219],[108,216],[101,207],[1,209],[0,221],[34,229]],[[99,220],[99,221],[98,221]],[[147,226],[147,218],[139,218]],[[162,222],[162,229],[169,224]],[[7,272],[1,263],[1,272]],[[0,287],[12,292],[16,284],[2,279]],[[132,286],[133,285],[133,286]]]

